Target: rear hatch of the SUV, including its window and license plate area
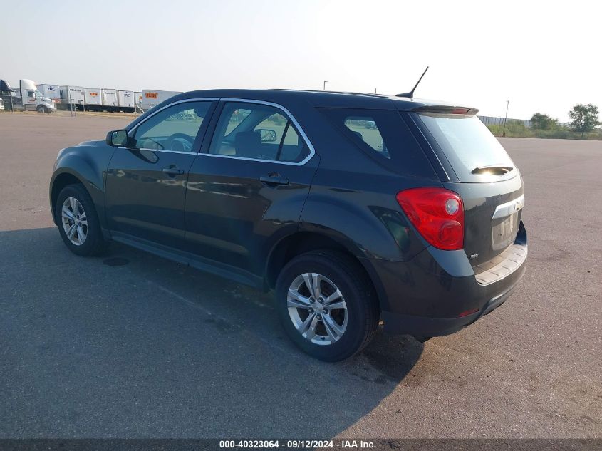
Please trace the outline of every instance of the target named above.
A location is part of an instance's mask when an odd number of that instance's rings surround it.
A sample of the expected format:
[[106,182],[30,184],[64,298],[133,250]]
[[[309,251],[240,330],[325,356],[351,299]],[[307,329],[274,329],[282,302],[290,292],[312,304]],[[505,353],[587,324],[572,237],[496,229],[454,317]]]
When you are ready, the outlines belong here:
[[475,113],[469,108],[422,107],[410,118],[440,162],[444,187],[462,197],[464,250],[478,274],[517,238],[524,194],[517,166]]

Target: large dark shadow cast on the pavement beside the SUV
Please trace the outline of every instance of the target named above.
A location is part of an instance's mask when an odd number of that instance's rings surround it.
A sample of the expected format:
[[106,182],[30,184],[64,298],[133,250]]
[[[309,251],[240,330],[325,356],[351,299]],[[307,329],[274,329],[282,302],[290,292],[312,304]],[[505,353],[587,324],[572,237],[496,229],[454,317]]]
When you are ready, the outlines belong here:
[[0,255],[4,437],[333,437],[423,350],[379,331],[316,361],[271,294],[119,244],[81,258],[54,228],[0,232]]

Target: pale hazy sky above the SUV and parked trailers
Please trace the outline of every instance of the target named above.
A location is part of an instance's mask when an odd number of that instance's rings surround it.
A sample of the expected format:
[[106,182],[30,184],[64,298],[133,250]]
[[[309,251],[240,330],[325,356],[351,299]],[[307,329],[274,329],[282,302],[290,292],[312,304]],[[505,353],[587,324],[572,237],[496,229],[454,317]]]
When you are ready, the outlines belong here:
[[[479,114],[602,109],[598,1],[0,0],[0,78],[396,94]],[[9,11],[7,13],[7,11]],[[6,20],[9,14],[12,20]],[[4,45],[4,43],[9,43]]]

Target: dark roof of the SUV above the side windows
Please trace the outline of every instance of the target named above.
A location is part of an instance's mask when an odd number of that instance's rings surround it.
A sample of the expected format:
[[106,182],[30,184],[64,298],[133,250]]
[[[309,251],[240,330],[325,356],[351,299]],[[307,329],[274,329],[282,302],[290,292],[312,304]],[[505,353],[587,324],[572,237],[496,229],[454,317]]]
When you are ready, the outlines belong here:
[[306,101],[318,107],[346,108],[385,108],[397,110],[415,110],[421,107],[447,106],[457,107],[454,103],[439,100],[426,100],[395,95],[371,93],[346,93],[323,90],[292,89],[214,89],[195,90],[182,93],[178,98],[233,98],[263,100],[286,106],[289,102]]

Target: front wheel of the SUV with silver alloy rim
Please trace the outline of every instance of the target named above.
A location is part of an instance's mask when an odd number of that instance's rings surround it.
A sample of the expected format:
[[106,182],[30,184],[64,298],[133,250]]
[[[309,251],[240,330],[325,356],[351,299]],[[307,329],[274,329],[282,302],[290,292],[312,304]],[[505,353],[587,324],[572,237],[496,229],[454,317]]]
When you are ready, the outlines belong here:
[[92,198],[83,185],[68,185],[56,199],[58,232],[73,254],[93,256],[105,249],[103,231]]

